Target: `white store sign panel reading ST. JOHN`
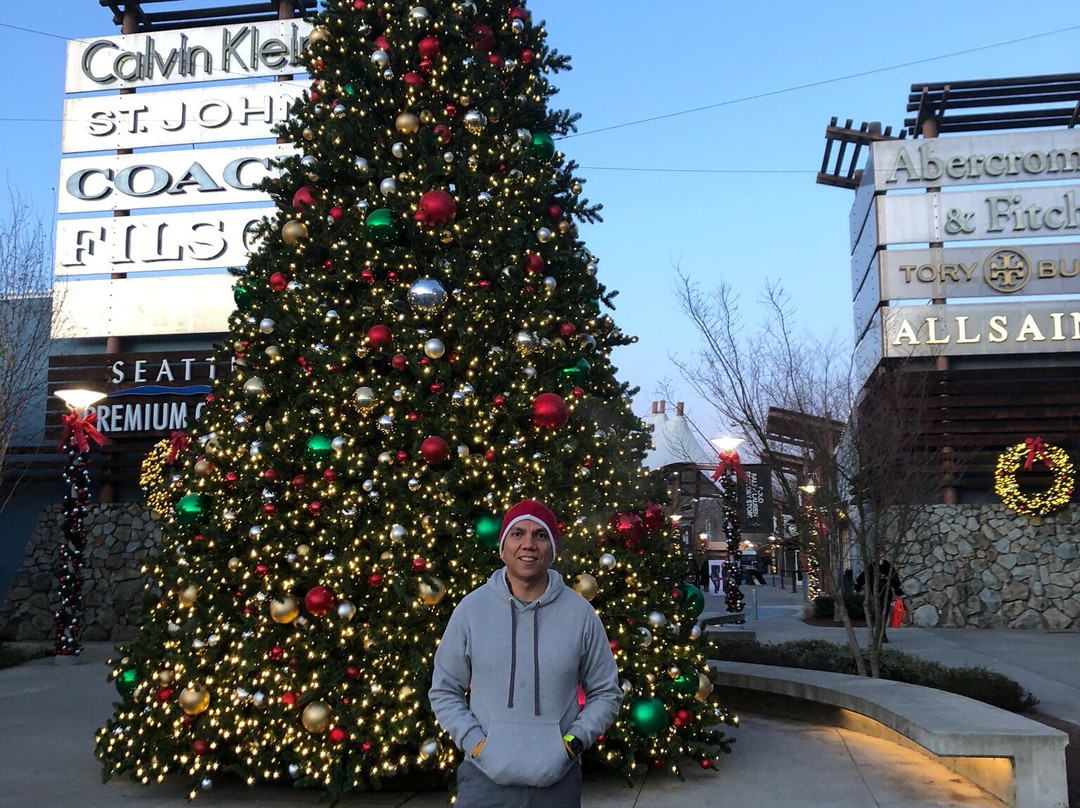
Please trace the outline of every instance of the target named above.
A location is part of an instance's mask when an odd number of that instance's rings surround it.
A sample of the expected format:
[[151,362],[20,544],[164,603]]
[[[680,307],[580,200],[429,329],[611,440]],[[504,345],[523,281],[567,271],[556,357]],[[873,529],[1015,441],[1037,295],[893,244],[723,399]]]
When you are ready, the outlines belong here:
[[64,102],[64,153],[274,137],[302,87],[229,84]]

